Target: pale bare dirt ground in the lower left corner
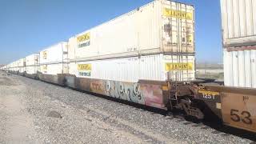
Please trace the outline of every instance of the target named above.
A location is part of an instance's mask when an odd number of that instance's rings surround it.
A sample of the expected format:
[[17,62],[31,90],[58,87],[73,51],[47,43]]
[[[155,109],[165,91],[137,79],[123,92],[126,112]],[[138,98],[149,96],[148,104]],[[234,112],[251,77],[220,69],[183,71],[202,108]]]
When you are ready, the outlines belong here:
[[33,143],[34,124],[20,98],[26,90],[19,82],[0,76],[0,142]]

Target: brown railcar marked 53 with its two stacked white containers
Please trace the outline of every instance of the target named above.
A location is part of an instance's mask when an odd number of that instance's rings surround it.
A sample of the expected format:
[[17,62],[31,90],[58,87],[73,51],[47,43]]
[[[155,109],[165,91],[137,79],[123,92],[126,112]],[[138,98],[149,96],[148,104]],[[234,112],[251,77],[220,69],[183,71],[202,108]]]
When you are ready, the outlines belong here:
[[[199,97],[229,126],[256,132],[256,1],[221,0],[225,86]],[[215,108],[213,103],[217,102]]]

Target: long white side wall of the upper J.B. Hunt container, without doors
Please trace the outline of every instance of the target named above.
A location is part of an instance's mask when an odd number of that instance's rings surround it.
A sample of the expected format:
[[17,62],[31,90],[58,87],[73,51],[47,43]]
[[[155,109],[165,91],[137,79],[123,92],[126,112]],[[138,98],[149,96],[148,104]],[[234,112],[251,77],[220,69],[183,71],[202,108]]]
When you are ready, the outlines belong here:
[[76,58],[122,53],[132,55],[138,54],[139,50],[150,49],[158,51],[160,10],[160,2],[155,1],[154,5],[150,3],[142,6],[138,10],[78,34],[72,39]]

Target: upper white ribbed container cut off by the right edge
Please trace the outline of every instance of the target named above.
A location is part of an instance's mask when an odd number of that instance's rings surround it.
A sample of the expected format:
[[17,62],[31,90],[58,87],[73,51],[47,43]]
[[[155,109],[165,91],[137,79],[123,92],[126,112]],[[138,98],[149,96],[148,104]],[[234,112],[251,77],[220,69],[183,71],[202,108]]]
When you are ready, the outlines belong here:
[[221,0],[224,46],[256,45],[255,7],[255,0]]

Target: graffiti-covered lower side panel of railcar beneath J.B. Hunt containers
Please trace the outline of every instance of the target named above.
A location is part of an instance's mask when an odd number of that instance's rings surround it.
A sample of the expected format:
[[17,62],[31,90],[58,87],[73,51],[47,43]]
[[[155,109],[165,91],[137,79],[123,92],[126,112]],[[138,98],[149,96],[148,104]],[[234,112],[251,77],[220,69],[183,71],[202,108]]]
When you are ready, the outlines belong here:
[[116,82],[90,78],[78,78],[76,86],[81,90],[89,90],[113,98],[120,98],[146,106],[164,108],[162,86],[134,82]]

